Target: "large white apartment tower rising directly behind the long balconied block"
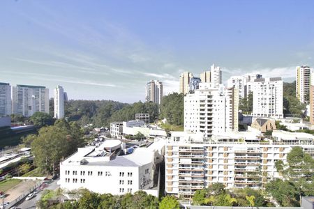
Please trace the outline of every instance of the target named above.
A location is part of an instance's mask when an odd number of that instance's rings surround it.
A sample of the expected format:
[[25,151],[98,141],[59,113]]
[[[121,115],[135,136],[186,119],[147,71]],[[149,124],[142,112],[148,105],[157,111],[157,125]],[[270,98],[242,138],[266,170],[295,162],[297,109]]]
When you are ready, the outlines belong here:
[[200,88],[184,97],[184,130],[204,137],[238,130],[239,98],[236,88],[214,87],[200,83]]

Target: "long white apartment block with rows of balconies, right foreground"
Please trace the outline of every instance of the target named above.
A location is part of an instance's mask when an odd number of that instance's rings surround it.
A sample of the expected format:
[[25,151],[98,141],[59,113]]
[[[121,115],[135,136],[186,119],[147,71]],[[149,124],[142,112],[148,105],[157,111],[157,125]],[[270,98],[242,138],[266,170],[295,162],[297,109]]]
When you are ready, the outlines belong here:
[[165,191],[167,194],[190,199],[212,183],[227,188],[253,189],[264,187],[274,178],[283,178],[276,162],[287,163],[287,153],[300,146],[312,157],[313,135],[282,132],[276,142],[259,139],[206,139],[197,134],[172,132],[167,139],[165,154]]

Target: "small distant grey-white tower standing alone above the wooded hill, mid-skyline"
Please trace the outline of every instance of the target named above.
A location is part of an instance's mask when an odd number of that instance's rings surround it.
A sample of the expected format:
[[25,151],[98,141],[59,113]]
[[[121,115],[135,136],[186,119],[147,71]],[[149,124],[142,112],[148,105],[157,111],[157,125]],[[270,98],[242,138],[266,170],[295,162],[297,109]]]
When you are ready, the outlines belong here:
[[147,82],[146,85],[146,101],[160,104],[163,98],[163,83],[155,80]]

